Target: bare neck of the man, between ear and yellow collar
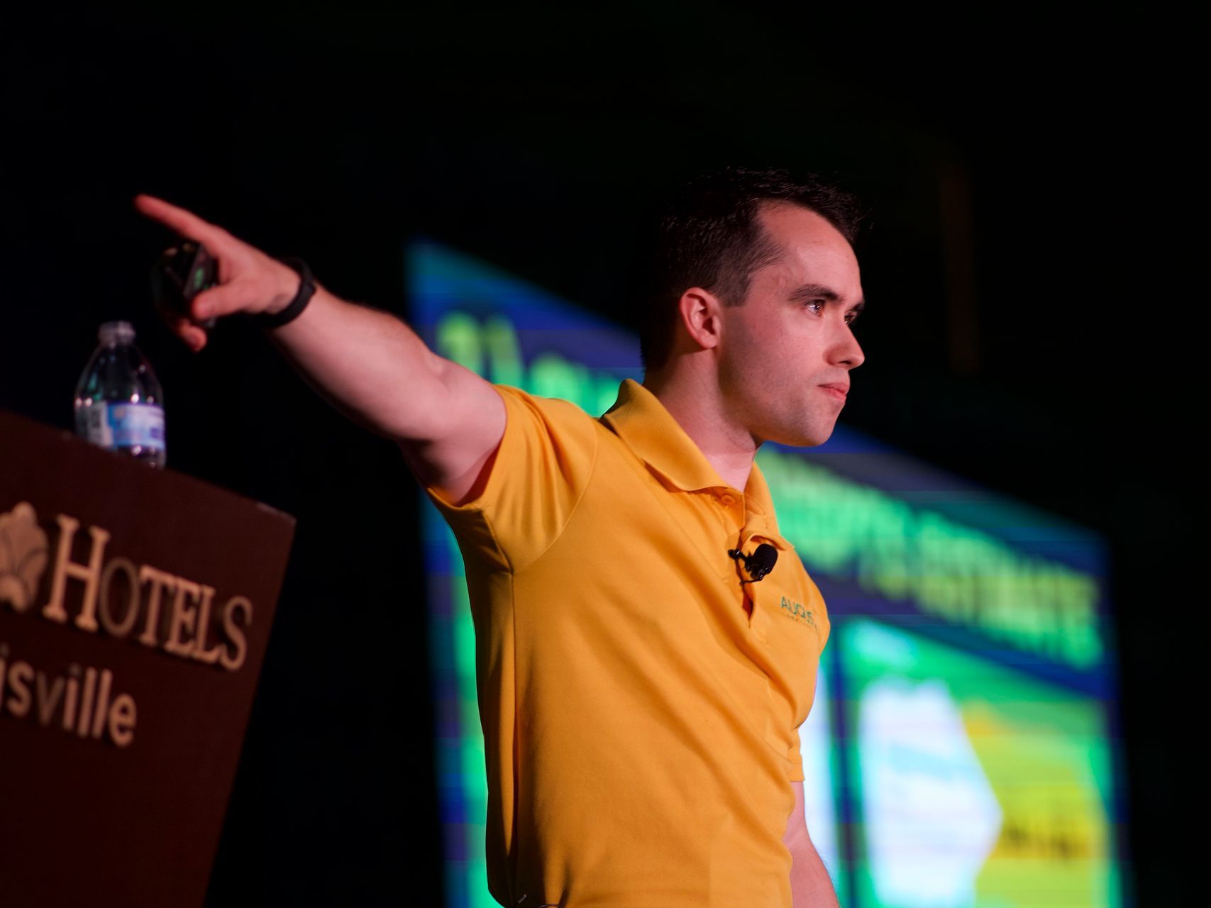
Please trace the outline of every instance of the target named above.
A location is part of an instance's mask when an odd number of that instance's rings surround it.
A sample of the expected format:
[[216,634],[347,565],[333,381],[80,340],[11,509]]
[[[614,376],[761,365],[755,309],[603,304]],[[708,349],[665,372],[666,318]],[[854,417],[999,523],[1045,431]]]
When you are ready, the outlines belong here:
[[643,386],[677,420],[719,477],[742,492],[761,442],[731,421],[718,383],[689,369],[665,369],[644,375]]

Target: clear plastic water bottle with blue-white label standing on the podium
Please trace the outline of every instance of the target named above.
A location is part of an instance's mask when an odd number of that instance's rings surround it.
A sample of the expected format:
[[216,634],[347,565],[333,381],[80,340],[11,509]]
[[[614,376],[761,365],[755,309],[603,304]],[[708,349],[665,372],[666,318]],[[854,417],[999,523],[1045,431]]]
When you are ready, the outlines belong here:
[[153,466],[167,459],[163,392],[130,322],[105,322],[75,393],[76,435]]

